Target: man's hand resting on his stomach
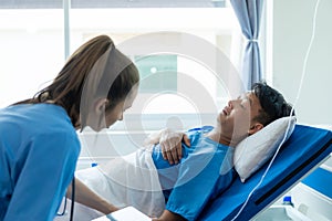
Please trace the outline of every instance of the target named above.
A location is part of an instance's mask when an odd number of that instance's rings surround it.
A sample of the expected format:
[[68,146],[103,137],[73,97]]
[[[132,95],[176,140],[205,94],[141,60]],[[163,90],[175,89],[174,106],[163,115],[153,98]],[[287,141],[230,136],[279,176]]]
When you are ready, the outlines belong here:
[[160,133],[159,144],[162,154],[164,159],[168,160],[170,165],[178,164],[183,157],[181,141],[188,147],[190,146],[190,139],[181,131],[163,129]]

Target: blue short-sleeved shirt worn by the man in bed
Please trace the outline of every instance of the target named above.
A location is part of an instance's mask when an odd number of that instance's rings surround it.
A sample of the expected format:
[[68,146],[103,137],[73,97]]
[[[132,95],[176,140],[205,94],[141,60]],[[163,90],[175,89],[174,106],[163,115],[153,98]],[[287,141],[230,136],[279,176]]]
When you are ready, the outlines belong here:
[[205,133],[212,127],[188,130],[190,147],[183,144],[183,159],[178,165],[164,160],[160,146],[153,150],[159,182],[166,199],[166,210],[187,220],[195,220],[206,203],[226,190],[235,177],[234,148],[218,144]]

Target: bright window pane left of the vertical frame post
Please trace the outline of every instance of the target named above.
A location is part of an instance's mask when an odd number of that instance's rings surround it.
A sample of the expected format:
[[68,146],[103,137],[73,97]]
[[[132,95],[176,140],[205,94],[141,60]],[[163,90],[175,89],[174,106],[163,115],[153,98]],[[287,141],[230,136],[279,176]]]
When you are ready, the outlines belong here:
[[63,11],[0,10],[0,107],[32,97],[64,63]]

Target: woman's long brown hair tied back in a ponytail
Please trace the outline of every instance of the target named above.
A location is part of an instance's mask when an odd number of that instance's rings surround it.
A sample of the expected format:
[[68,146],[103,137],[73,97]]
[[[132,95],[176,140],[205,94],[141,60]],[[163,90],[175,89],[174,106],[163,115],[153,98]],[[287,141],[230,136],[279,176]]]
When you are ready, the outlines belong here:
[[[49,86],[39,91],[32,98],[21,101],[13,105],[53,103],[62,106],[66,110],[74,127],[80,127],[80,108],[84,83],[98,59],[107,51],[112,53],[112,51],[114,50],[116,50],[115,45],[111,38],[107,35],[98,35],[91,39],[90,41],[81,45],[69,57],[63,69]],[[121,54],[121,59],[128,60],[121,52],[117,51],[117,53]],[[108,87],[111,90],[107,94],[107,98],[112,101],[108,107],[111,108],[117,102],[125,98],[125,96],[129,93],[132,87],[138,83],[138,71],[136,66],[132,62],[129,62],[126,67],[121,70],[121,73],[118,73],[115,81],[112,82],[112,86],[110,85]],[[101,83],[102,82],[97,82],[97,84]],[[85,126],[84,123],[85,122],[83,118],[83,126]]]

